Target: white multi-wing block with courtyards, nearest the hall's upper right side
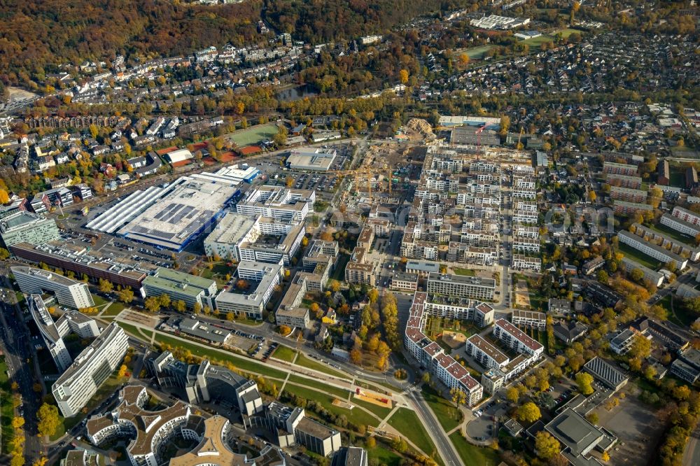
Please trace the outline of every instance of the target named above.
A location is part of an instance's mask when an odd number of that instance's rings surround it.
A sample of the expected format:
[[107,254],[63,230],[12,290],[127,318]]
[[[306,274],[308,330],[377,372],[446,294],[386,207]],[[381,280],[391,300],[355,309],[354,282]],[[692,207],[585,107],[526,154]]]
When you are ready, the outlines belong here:
[[316,192],[313,190],[290,190],[262,185],[248,190],[236,204],[236,211],[247,216],[272,217],[283,222],[302,222],[313,209],[315,201]]

